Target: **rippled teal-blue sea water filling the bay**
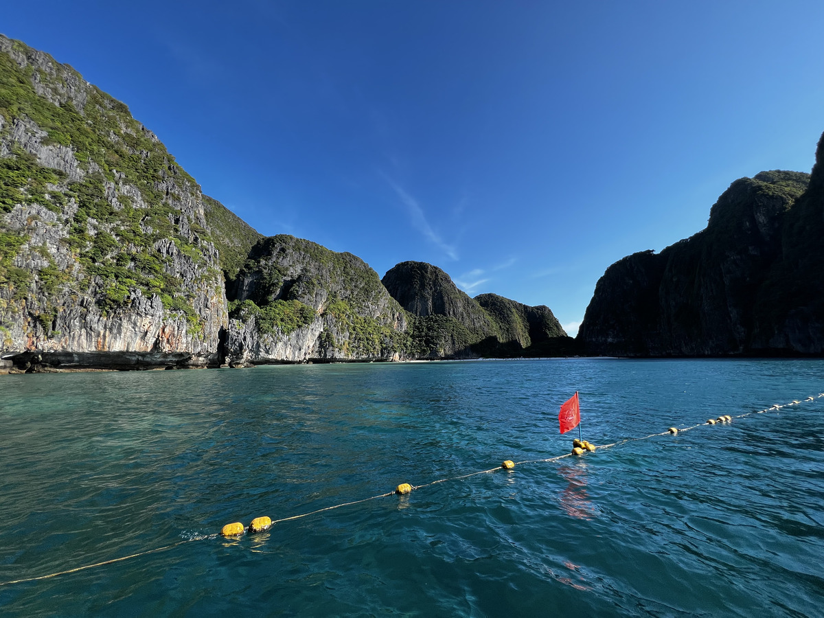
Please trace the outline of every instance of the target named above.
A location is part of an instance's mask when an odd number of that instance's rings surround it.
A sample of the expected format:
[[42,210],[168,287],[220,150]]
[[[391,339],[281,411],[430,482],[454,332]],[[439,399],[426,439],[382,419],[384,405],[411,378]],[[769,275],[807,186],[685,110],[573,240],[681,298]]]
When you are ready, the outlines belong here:
[[[824,616],[824,362],[0,377],[4,616]],[[577,436],[577,431],[574,432]]]

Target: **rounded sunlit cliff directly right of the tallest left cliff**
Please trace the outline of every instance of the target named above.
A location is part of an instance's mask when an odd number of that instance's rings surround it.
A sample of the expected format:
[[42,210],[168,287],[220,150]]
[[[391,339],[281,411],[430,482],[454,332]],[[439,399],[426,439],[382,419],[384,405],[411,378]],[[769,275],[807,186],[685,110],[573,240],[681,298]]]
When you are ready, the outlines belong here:
[[234,363],[405,358],[406,314],[351,253],[294,236],[258,241],[229,288]]

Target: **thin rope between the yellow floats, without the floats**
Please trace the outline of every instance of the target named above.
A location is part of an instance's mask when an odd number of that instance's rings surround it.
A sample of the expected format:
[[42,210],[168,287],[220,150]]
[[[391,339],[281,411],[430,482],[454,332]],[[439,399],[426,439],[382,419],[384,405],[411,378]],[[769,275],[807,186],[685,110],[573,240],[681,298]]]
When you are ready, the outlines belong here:
[[[744,414],[738,414],[737,416],[733,416],[733,417],[730,417],[730,418],[743,419],[743,418],[746,418],[747,416],[751,416],[752,414],[764,414],[765,412],[778,412],[779,410],[782,410],[783,408],[787,408],[787,407],[790,407],[790,406],[793,406],[793,405],[801,405],[801,404],[806,403],[808,401],[814,401],[814,400],[820,399],[822,397],[824,397],[824,393],[819,393],[817,396],[809,396],[804,400],[796,399],[796,400],[792,400],[789,403],[783,404],[783,405],[779,405],[779,404],[770,405],[769,408],[765,408],[764,410],[756,410],[754,412],[745,412]],[[709,422],[708,423],[695,424],[695,425],[692,425],[691,427],[677,428],[676,433],[684,433],[685,431],[690,431],[691,429],[695,429],[695,428],[698,428],[698,427],[706,427],[708,425],[710,425]],[[627,442],[638,442],[639,440],[648,440],[649,438],[658,438],[659,436],[667,436],[667,435],[672,435],[672,432],[667,430],[667,431],[662,432],[662,433],[650,433],[648,436],[643,436],[641,438],[625,438],[623,440],[619,440],[618,442],[612,442],[611,444],[602,444],[600,446],[595,447],[595,449],[596,450],[602,450],[602,449],[605,449],[605,448],[620,447],[622,444],[626,444]],[[565,459],[566,457],[571,457],[571,456],[576,456],[576,455],[575,455],[574,452],[569,452],[569,453],[566,453],[565,455],[559,455],[559,456],[555,456],[555,457],[548,457],[546,459],[527,459],[525,461],[515,461],[515,462],[513,462],[513,466],[522,466],[523,464],[531,464],[531,463],[550,463],[552,461],[559,461],[561,459]],[[448,476],[447,478],[444,478],[444,479],[438,479],[438,480],[433,480],[429,483],[424,483],[424,485],[410,485],[410,491],[411,490],[417,490],[417,489],[423,489],[424,487],[430,487],[432,485],[438,485],[438,483],[446,483],[447,481],[450,481],[450,480],[463,480],[463,479],[468,479],[471,476],[475,476],[475,475],[491,474],[493,472],[497,472],[497,471],[504,470],[504,469],[505,468],[503,466],[495,466],[494,468],[489,468],[489,470],[480,470],[480,471],[476,471],[476,472],[470,472],[469,474],[465,474],[465,475]],[[349,507],[349,506],[352,506],[353,504],[360,504],[360,503],[368,502],[369,500],[374,500],[374,499],[378,499],[378,498],[388,498],[391,495],[399,494],[399,493],[408,493],[408,492],[400,492],[400,485],[399,485],[399,489],[396,489],[395,491],[387,491],[386,494],[377,494],[377,495],[374,495],[374,496],[370,496],[369,498],[363,498],[363,499],[359,499],[359,500],[353,500],[352,502],[344,502],[344,503],[340,503],[340,504],[335,504],[333,506],[325,507],[325,508],[318,508],[314,511],[310,511],[309,513],[300,513],[298,515],[293,515],[292,517],[282,517],[281,519],[273,520],[271,522],[271,525],[274,526],[277,523],[292,522],[293,520],[296,520],[296,519],[302,519],[303,517],[310,517],[311,515],[316,515],[318,513],[324,513],[325,511],[331,511],[331,510],[334,510],[335,508]],[[104,560],[103,562],[96,562],[95,564],[86,564],[84,566],[76,567],[75,569],[67,569],[67,570],[64,570],[64,571],[58,571],[56,573],[50,573],[48,575],[40,575],[38,577],[13,579],[13,580],[8,581],[8,582],[0,582],[0,587],[10,586],[10,585],[16,584],[16,583],[37,582],[37,581],[40,581],[41,579],[56,578],[59,575],[68,575],[68,574],[72,574],[72,573],[77,573],[78,571],[84,571],[84,570],[87,570],[87,569],[95,569],[96,567],[105,566],[107,564],[115,564],[117,562],[123,562],[124,560],[139,558],[140,556],[144,556],[144,555],[157,554],[157,553],[162,552],[162,551],[171,550],[175,547],[179,547],[180,545],[185,545],[186,543],[191,543],[192,541],[203,541],[204,539],[214,539],[214,538],[217,538],[217,537],[218,537],[217,534],[195,536],[195,537],[190,538],[190,539],[185,539],[183,541],[178,541],[176,543],[171,543],[171,545],[164,545],[163,547],[157,547],[157,548],[154,548],[152,550],[141,551],[141,552],[138,552],[137,554],[121,556],[120,558],[113,558],[113,559],[110,559],[110,560]]]

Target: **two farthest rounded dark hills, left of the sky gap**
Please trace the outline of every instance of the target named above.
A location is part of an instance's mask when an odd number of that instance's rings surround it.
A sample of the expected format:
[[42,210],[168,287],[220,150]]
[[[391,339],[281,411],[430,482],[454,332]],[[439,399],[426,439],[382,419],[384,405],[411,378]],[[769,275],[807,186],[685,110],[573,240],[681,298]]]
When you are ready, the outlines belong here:
[[414,316],[410,335],[419,358],[537,356],[572,348],[548,307],[495,294],[471,298],[437,266],[401,262],[382,283]]

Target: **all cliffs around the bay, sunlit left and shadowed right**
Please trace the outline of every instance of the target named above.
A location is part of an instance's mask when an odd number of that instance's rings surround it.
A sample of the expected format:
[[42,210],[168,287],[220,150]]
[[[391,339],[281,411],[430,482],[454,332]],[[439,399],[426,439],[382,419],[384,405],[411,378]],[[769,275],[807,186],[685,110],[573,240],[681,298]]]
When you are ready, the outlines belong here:
[[824,171],[737,180],[709,224],[548,307],[438,267],[262,236],[129,108],[0,35],[0,372],[442,358],[824,353]]

